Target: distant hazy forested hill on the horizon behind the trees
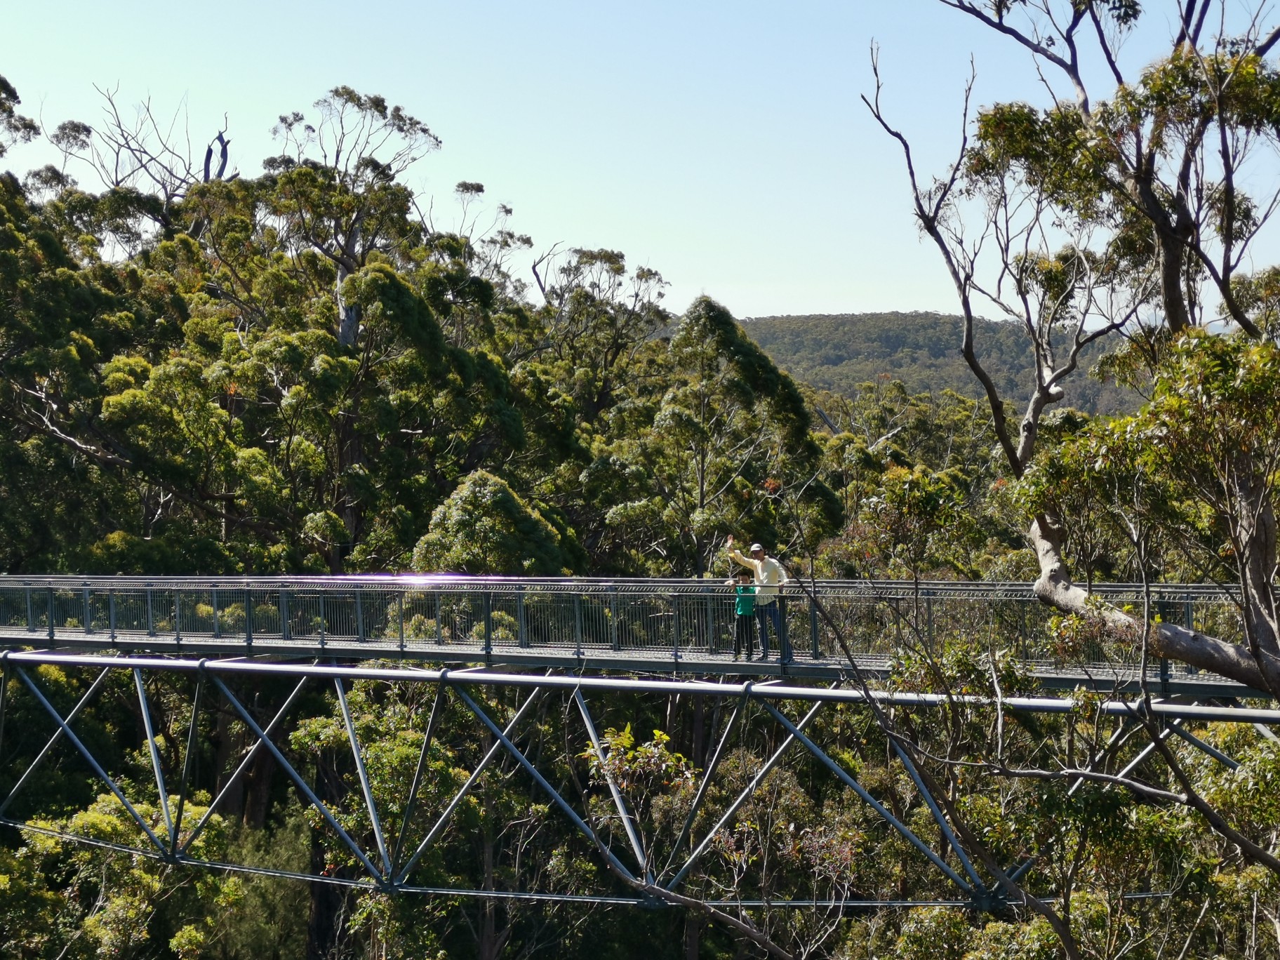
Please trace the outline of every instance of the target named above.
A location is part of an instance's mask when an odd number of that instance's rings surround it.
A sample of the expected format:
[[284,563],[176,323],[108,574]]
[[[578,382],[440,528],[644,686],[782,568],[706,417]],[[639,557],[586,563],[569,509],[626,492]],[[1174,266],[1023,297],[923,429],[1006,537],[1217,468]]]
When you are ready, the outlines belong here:
[[[980,388],[960,356],[960,317],[942,314],[835,314],[763,316],[744,321],[748,334],[778,366],[813,387],[851,394],[858,384],[882,374],[902,380],[911,393],[952,389],[979,397]],[[980,320],[978,353],[1001,396],[1025,401],[1032,355],[1025,335],[1011,323]],[[1137,407],[1135,394],[1088,376],[1103,355],[1089,349],[1082,371],[1066,385],[1066,402],[1091,413]]]

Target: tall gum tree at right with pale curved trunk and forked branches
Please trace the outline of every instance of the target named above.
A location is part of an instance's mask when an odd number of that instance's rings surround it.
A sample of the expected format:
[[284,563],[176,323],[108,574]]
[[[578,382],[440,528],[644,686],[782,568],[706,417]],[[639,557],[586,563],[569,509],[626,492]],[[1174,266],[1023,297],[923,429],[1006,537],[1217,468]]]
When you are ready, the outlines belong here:
[[[864,97],[902,151],[916,221],[960,301],[961,352],[983,385],[1007,470],[1020,479],[1037,454],[1041,419],[1062,398],[1088,343],[1124,335],[1153,344],[1158,364],[1170,337],[1215,319],[1215,303],[1239,335],[1265,337],[1245,270],[1280,204],[1280,180],[1251,163],[1280,140],[1280,70],[1270,59],[1280,26],[1268,24],[1274,12],[1262,6],[1242,14],[1212,0],[1172,4],[1167,52],[1130,72],[1121,41],[1158,29],[1137,3],[940,3],[1028,51],[1052,95],[1046,109],[986,108],[970,125],[970,81],[959,154],[932,182],[882,109],[874,50],[876,92]],[[1106,96],[1093,90],[1100,76]],[[1018,420],[975,340],[974,319],[987,307],[1025,329],[1038,361]],[[1160,622],[1151,648],[1280,694],[1275,504],[1256,489],[1252,452],[1235,456],[1224,497],[1257,504],[1231,534],[1249,643]],[[1037,595],[1142,635],[1138,620],[1091,600],[1073,580],[1064,520],[1044,508],[1029,525]]]

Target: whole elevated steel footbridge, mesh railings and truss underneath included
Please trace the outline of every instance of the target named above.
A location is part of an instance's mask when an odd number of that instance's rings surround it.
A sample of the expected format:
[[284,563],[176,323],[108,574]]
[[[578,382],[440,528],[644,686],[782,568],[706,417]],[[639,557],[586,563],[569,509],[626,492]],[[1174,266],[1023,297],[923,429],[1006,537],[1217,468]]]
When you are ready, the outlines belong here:
[[[1096,591],[1112,603],[1143,603],[1143,590],[1135,585],[1098,585]],[[1176,617],[1219,636],[1239,632],[1236,605],[1221,589],[1158,585],[1147,599],[1165,620]],[[1228,767],[1235,760],[1185,727],[1252,723],[1271,736],[1271,726],[1280,723],[1280,710],[1258,703],[1263,694],[1220,677],[1157,662],[1143,678],[1134,650],[1100,644],[1064,652],[1051,628],[1051,613],[1027,584],[805,581],[803,588],[783,591],[780,605],[782,643],[776,641],[774,658],[745,662],[732,657],[733,594],[705,580],[4,577],[0,760],[20,754],[27,762],[20,769],[0,765],[0,824],[122,855],[356,890],[658,906],[673,902],[675,895],[696,881],[717,838],[790,755],[803,756],[810,768],[833,777],[867,804],[886,832],[901,837],[925,869],[936,870],[951,896],[867,899],[846,890],[827,899],[765,902],[703,896],[705,902],[737,910],[842,911],[922,904],[992,909],[1001,902],[998,883],[957,841],[943,804],[905,750],[888,740],[895,763],[914,785],[914,803],[934,824],[936,836],[931,831],[929,838],[868,790],[836,751],[806,733],[827,707],[991,703],[978,695],[904,691],[884,682],[904,648],[928,652],[947,637],[983,639],[992,652],[1016,657],[1037,687],[1002,698],[1004,709],[1069,713],[1075,703],[1066,691],[1087,687],[1094,691],[1094,710],[1120,719],[1117,741],[1132,736],[1139,719],[1153,716],[1166,735],[1181,737]],[[778,650],[788,646],[794,658],[782,662]],[[58,696],[42,673],[47,668],[82,678],[74,701],[55,703]],[[430,709],[411,721],[417,763],[404,795],[380,794],[369,774],[367,744],[361,742],[349,705],[353,685],[360,682],[419,685],[431,691]],[[268,684],[284,691],[270,703],[257,695]],[[133,699],[140,731],[133,746],[148,763],[142,786],[137,776],[108,769],[101,749],[77,733],[77,718],[109,689],[116,696],[128,690]],[[1153,698],[1149,703],[1134,696],[1140,689]],[[328,691],[326,703],[349,749],[349,782],[342,799],[321,797],[315,774],[291,756],[285,742],[303,695],[317,690]],[[498,700],[507,704],[500,714],[494,699],[499,691]],[[598,806],[595,813],[589,809],[582,786],[575,794],[564,781],[571,755],[548,759],[529,748],[535,726],[531,709],[540,699],[558,698],[564,716],[576,717],[580,724],[575,736],[607,771],[603,762],[609,746],[599,721],[605,698],[616,695],[687,696],[716,704],[709,750],[696,772],[684,827],[667,849],[650,849],[627,791],[612,776],[605,773],[607,782],[598,785],[612,809],[602,818]],[[37,735],[29,723],[20,731],[10,724],[6,745],[5,717],[19,703],[23,716],[42,717],[47,728]],[[315,698],[311,703],[314,709]],[[216,791],[197,804],[200,758],[207,753],[202,739],[214,712],[241,724],[246,748],[234,764],[216,772]],[[422,785],[433,745],[448,736],[440,719],[447,712],[454,722],[460,716],[468,718],[471,732],[480,733],[488,746],[448,799],[431,804]],[[769,749],[745,783],[726,790],[722,760],[749,723],[767,731]],[[26,739],[26,748],[13,746],[15,735]],[[564,748],[568,751],[567,735]],[[297,801],[312,810],[319,828],[329,831],[346,851],[344,869],[307,873],[201,855],[202,832],[264,755],[287,777]],[[1144,748],[1128,769],[1151,755],[1152,748]],[[579,855],[599,863],[608,882],[593,892],[566,893],[466,888],[424,874],[429,851],[449,831],[461,829],[458,808],[497,763],[527,777],[530,790],[572,827]],[[56,764],[77,765],[105,791],[102,796],[132,824],[131,842],[76,833],[38,817],[31,805],[36,785],[41,771]],[[1016,879],[1034,863],[1029,858],[1004,869]]]

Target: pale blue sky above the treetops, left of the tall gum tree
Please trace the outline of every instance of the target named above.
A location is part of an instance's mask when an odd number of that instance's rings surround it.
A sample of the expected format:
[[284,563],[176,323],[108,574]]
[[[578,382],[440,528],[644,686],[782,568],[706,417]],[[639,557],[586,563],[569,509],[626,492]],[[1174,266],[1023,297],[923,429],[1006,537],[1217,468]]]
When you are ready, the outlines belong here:
[[[705,293],[737,316],[954,312],[901,154],[859,101],[868,49],[925,172],[959,143],[970,54],[978,104],[1044,96],[1028,55],[931,0],[8,6],[0,76],[50,127],[92,123],[93,84],[118,87],[157,113],[186,104],[201,154],[225,113],[255,175],[279,114],[339,83],[381,93],[443,140],[411,178],[438,224],[479,180],[539,250],[659,270],[676,311]],[[45,161],[28,146],[0,164]]]

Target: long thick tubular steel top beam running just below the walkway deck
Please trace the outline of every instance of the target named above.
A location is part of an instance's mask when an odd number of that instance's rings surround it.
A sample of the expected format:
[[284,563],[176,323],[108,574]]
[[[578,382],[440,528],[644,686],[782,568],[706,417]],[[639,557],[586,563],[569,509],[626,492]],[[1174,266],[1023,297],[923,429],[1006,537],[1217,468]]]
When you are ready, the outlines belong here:
[[[332,680],[344,677],[347,680],[381,680],[387,682],[402,684],[434,684],[445,677],[449,671],[417,669],[411,667],[357,667],[357,666],[326,666],[326,664],[298,664],[298,663],[271,663],[264,660],[195,660],[195,659],[166,659],[163,657],[101,657],[96,654],[65,654],[6,650],[0,658],[8,658],[13,663],[51,663],[64,667],[109,667],[114,669],[168,669],[175,672],[193,672],[205,669],[211,675],[264,675],[264,676],[293,676],[293,677],[320,677]],[[453,671],[457,678],[457,671]],[[572,691],[581,686],[584,690],[614,690],[632,694],[699,694],[703,696],[740,696],[748,691],[753,700],[829,700],[833,703],[867,703],[867,696],[861,690],[832,690],[822,686],[787,686],[783,684],[712,684],[700,680],[648,680],[634,677],[608,677],[608,676],[548,676],[543,673],[503,673],[498,671],[477,669],[466,675],[467,684],[480,684],[485,686],[517,686],[517,687],[545,687]],[[996,707],[997,700],[988,696],[977,695],[945,695],[945,694],[909,694],[893,691],[870,691],[870,698],[886,707],[942,707],[947,704],[961,704],[965,707]],[[998,704],[1005,709],[1020,713],[1052,713],[1065,714],[1076,709],[1076,700],[1073,698],[1055,696],[1011,696],[1002,698]],[[1111,717],[1138,717],[1144,709],[1140,700],[1105,700],[1100,704],[1089,704],[1089,709]],[[1151,713],[1157,717],[1199,719],[1225,723],[1266,723],[1280,724],[1280,709],[1245,709],[1238,707],[1201,707],[1198,704],[1180,703],[1153,703]]]

